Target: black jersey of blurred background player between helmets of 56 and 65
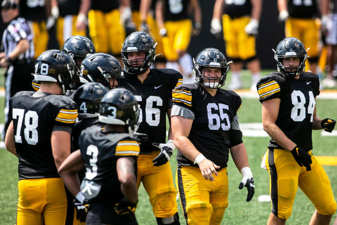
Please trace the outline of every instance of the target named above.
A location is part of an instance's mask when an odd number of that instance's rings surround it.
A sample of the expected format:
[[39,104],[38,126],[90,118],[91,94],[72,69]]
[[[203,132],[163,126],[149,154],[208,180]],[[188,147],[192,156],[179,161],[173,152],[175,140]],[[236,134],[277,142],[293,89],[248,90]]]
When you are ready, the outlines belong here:
[[164,0],[164,21],[188,19],[188,3],[189,0]]

